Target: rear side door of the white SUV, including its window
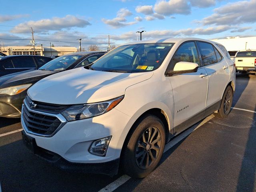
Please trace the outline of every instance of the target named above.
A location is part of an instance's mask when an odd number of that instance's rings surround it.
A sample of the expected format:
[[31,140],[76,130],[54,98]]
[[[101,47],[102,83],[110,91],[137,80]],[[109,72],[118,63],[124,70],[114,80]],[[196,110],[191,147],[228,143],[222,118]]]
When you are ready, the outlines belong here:
[[[204,68],[208,74],[206,107],[212,112],[221,102],[222,94],[230,79],[227,62],[218,50],[208,42],[197,42]],[[207,114],[206,114],[207,115]]]

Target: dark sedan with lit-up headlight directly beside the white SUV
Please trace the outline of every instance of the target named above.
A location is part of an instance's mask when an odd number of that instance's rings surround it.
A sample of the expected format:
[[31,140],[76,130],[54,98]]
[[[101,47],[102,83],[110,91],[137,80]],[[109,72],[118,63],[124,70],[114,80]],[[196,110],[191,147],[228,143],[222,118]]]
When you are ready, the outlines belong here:
[[77,52],[51,60],[38,70],[27,70],[0,77],[0,117],[18,118],[27,89],[49,75],[86,66],[105,52]]

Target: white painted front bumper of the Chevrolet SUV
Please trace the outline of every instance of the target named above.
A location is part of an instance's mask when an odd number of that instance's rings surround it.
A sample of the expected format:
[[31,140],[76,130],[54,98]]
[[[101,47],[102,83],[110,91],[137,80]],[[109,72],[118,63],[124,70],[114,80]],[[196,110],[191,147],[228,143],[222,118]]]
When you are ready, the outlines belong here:
[[[38,148],[59,156],[60,159],[55,164],[60,164],[60,167],[65,167],[62,164],[67,162],[72,164],[94,164],[96,167],[97,164],[117,162],[128,132],[129,120],[130,116],[112,109],[93,118],[65,122],[64,126],[53,136],[46,137],[29,132],[23,117],[21,118],[24,134],[34,138]],[[89,153],[92,142],[108,136],[112,136],[112,139],[106,156],[96,156]],[[37,155],[41,156],[41,154]],[[118,169],[118,166],[115,167]],[[116,170],[114,170],[114,173],[116,174]]]

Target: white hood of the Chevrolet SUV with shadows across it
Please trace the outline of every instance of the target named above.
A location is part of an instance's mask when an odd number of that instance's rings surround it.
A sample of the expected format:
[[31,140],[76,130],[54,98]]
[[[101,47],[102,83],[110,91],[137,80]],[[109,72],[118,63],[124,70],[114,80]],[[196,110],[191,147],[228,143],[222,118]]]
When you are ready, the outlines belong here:
[[116,73],[76,68],[48,76],[28,89],[32,100],[52,104],[84,104],[124,95],[127,87],[154,72]]

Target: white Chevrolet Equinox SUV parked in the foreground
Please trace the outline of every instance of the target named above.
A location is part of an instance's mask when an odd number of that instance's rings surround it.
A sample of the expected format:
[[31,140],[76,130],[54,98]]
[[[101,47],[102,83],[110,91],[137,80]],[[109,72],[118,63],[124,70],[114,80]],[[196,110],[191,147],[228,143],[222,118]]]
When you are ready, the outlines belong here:
[[229,114],[235,68],[226,55],[208,40],[147,40],[48,76],[24,100],[24,143],[61,168],[145,177],[172,137]]

